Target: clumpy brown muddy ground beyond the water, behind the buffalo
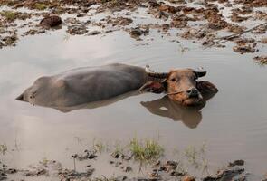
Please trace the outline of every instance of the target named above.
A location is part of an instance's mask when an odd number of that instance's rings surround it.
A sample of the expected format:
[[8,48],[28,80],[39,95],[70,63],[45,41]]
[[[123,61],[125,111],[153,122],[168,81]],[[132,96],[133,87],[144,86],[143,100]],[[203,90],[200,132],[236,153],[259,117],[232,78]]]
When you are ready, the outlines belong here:
[[[175,32],[177,43],[189,39],[205,48],[227,45],[241,54],[258,52],[267,39],[265,0],[3,0],[1,6],[1,48],[15,46],[22,36],[62,27],[85,36],[126,31],[137,41],[157,29],[163,35]],[[154,23],[136,19],[139,10]],[[255,55],[256,62],[266,59]]]

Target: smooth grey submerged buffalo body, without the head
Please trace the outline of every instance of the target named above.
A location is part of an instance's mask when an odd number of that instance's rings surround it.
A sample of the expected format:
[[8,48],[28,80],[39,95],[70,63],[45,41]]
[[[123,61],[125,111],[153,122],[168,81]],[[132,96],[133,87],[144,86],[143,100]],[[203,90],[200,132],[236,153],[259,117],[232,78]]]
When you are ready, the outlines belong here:
[[75,106],[137,90],[147,79],[145,70],[136,66],[85,67],[41,77],[17,100],[49,107]]

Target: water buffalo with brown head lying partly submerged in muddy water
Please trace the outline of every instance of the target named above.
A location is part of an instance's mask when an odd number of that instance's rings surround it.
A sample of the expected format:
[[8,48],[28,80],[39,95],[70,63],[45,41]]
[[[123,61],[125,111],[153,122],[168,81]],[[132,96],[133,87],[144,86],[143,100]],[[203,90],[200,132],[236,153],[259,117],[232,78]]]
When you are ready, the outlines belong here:
[[[112,63],[41,77],[16,100],[47,107],[72,107],[140,89],[142,92],[167,92],[170,99],[190,106],[203,100],[196,79],[204,75],[205,71],[193,69],[157,73],[148,67]],[[209,91],[217,91],[213,84],[208,84]]]

